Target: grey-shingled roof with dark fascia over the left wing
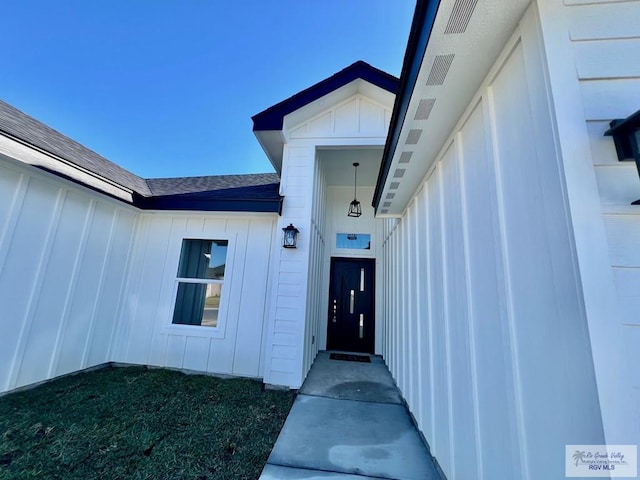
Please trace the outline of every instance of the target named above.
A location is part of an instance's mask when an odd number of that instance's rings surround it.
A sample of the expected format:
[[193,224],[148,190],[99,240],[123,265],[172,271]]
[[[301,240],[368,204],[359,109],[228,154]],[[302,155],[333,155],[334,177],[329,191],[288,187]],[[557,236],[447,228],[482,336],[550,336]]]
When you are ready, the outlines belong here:
[[[18,160],[141,209],[278,213],[281,209],[280,179],[274,173],[144,179],[2,100],[0,136],[40,151],[50,161]],[[93,182],[94,178],[99,181]]]

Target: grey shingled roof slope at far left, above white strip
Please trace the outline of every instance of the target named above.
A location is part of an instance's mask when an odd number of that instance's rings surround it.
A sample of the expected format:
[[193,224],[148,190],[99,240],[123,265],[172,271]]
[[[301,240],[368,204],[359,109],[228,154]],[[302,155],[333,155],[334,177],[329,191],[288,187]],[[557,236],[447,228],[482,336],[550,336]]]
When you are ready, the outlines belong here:
[[63,158],[141,195],[151,195],[147,182],[93,150],[0,100],[0,132]]

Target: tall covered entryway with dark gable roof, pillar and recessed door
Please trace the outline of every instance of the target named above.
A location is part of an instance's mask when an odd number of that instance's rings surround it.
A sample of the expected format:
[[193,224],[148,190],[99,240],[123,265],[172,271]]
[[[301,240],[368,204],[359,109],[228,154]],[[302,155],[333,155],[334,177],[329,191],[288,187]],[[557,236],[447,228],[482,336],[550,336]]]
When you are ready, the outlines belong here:
[[[376,218],[372,204],[397,84],[356,62],[253,117],[254,132],[280,175],[279,227],[292,224],[300,232],[296,248],[279,249],[274,262],[266,383],[299,388],[320,350],[382,353],[382,312],[374,312],[382,282],[374,285],[374,275],[382,272],[382,239],[392,222]],[[348,215],[354,201],[361,209]],[[328,318],[333,258],[355,262],[348,275],[353,285],[343,284],[335,294],[335,324]],[[362,309],[365,293],[368,306]]]

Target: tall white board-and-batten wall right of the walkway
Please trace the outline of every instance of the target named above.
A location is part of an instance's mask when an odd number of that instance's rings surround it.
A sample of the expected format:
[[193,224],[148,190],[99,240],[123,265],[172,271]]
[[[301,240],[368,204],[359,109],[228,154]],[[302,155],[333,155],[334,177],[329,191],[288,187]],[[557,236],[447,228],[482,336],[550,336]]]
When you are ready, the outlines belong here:
[[604,443],[538,25],[385,226],[385,357],[449,479],[561,479]]

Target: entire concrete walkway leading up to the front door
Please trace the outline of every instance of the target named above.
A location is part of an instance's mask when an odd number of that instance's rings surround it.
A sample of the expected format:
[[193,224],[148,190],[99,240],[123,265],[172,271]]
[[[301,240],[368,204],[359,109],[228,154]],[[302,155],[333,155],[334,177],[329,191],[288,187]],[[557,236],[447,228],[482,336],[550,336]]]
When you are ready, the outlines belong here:
[[260,480],[441,480],[382,359],[320,352]]

